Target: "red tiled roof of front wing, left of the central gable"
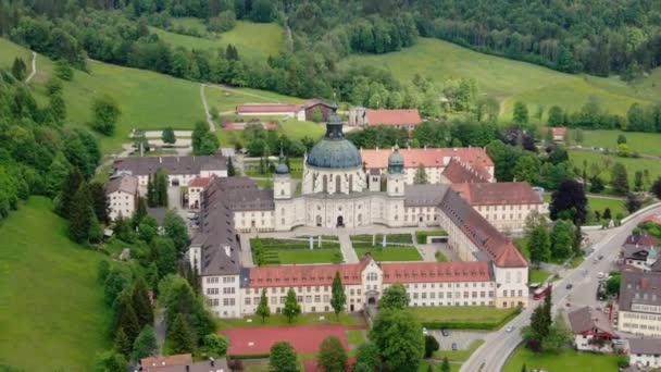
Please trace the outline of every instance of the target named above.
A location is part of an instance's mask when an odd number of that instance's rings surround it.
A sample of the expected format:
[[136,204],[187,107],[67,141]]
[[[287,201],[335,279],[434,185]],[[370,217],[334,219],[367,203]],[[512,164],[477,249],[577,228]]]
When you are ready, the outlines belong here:
[[365,255],[359,263],[250,268],[250,287],[330,285],[336,272],[339,272],[345,285],[361,284],[361,273],[370,260],[372,260],[372,255]]

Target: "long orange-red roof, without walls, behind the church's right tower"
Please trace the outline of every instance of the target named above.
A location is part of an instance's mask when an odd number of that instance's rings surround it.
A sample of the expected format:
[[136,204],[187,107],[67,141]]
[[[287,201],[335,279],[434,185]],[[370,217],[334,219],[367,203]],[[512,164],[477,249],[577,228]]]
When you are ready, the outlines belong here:
[[[367,169],[388,168],[390,153],[392,149],[361,150],[361,157]],[[404,158],[406,168],[417,168],[420,164],[427,168],[446,166],[452,158],[475,169],[494,166],[494,162],[481,147],[399,149],[399,153]]]

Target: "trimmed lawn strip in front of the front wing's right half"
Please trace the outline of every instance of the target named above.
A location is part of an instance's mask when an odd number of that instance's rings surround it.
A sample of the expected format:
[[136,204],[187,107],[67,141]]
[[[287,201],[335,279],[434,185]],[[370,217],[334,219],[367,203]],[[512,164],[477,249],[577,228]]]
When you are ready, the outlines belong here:
[[496,309],[490,306],[411,307],[422,323],[492,323],[497,324],[517,312],[516,308]]

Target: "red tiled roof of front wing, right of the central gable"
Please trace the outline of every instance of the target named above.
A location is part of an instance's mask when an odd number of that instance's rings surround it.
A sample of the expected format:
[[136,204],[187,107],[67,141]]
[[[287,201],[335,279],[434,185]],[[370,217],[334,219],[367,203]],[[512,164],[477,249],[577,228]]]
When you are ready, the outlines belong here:
[[382,263],[384,283],[487,282],[486,261]]

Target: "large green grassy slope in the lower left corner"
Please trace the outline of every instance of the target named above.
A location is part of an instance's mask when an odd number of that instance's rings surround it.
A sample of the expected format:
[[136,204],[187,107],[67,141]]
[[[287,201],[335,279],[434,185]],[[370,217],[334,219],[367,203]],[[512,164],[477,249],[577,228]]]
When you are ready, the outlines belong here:
[[51,208],[32,198],[0,226],[0,363],[91,371],[95,352],[110,346],[96,280],[102,256],[73,244]]

